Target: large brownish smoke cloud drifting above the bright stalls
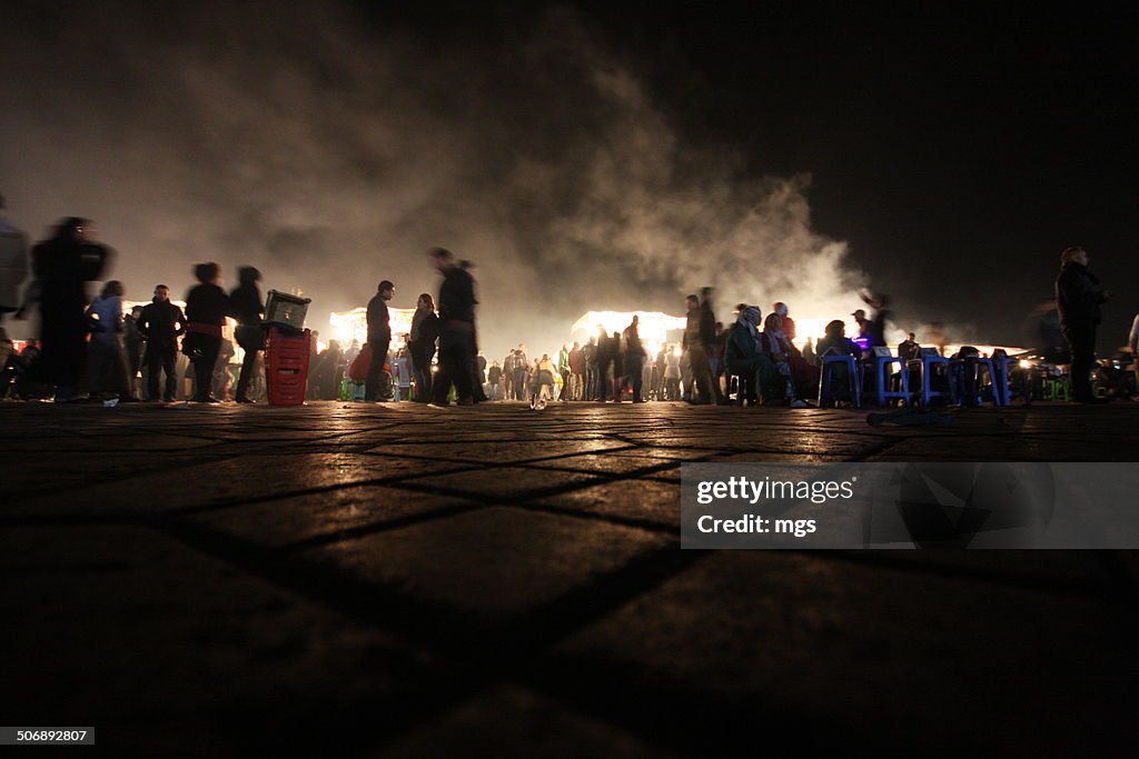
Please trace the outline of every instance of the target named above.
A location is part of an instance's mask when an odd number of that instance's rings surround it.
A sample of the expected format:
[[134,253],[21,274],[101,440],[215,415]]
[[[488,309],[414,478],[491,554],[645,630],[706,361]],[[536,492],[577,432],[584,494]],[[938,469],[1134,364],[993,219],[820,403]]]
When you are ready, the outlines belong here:
[[32,237],[92,217],[128,297],[251,264],[323,330],[382,279],[396,306],[435,292],[440,245],[476,264],[494,356],[556,349],[590,310],[680,314],[705,284],[724,321],[738,302],[858,306],[866,277],[812,231],[809,178],[686,145],[575,11],[441,44],[328,3],[159,6],[0,25],[9,217]]

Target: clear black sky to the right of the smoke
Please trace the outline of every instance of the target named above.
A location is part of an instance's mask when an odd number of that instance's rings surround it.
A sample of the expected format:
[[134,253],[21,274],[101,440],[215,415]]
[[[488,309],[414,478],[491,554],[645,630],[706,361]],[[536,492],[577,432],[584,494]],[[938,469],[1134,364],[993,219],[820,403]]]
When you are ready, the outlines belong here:
[[[846,240],[900,317],[1021,337],[1082,245],[1139,313],[1139,11],[1064,3],[577,3],[687,139],[756,174],[809,172],[814,226]],[[375,11],[432,39],[509,32],[511,3]]]

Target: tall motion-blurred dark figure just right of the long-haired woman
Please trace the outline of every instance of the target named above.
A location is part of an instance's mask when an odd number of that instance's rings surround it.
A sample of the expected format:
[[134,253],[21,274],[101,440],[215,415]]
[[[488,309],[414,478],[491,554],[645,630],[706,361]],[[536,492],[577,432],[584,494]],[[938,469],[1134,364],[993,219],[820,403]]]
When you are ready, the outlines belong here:
[[[432,388],[433,402],[448,403],[446,396],[454,386],[459,405],[475,402],[470,387],[472,365],[475,360],[475,280],[466,267],[454,262],[454,254],[446,248],[431,251],[435,267],[443,274],[439,288],[439,373]],[[525,393],[525,377],[523,377]]]

